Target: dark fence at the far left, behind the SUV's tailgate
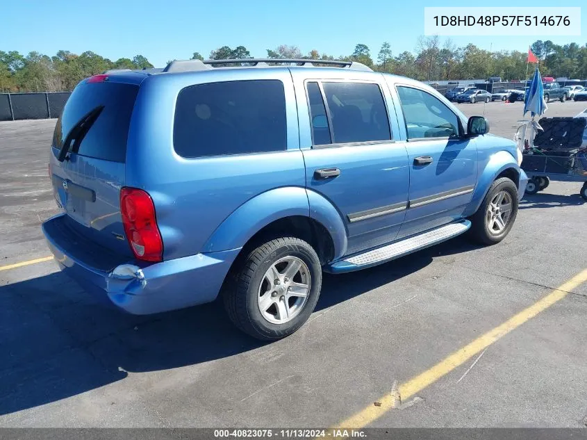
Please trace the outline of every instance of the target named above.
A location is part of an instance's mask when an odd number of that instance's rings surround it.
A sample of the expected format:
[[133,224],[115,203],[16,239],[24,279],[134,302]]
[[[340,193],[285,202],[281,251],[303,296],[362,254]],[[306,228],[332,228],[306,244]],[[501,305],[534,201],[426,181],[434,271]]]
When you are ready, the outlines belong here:
[[0,121],[59,117],[71,92],[1,93]]

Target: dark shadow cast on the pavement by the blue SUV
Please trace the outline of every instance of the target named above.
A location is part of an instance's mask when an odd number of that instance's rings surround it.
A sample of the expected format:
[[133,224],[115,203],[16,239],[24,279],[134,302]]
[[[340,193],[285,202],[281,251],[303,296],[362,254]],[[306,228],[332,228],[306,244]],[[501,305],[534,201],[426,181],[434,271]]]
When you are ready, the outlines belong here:
[[[461,238],[390,263],[324,276],[316,311],[475,249]],[[229,323],[220,301],[152,316],[97,302],[61,272],[0,287],[0,414],[76,396],[131,373],[231,357],[267,343]],[[292,336],[295,338],[295,336]]]

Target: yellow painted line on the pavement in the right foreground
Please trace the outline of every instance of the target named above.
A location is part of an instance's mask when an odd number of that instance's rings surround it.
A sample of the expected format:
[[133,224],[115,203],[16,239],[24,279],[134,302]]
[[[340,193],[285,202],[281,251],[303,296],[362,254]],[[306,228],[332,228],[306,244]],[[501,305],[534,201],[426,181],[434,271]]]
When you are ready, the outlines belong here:
[[556,302],[565,298],[565,296],[568,295],[572,289],[580,286],[586,281],[587,269],[575,275],[568,282],[565,282],[565,284],[562,284],[558,288],[554,289],[554,291],[546,295],[538,302],[535,302],[527,309],[524,309],[520,311],[520,313],[512,316],[502,325],[498,325],[486,334],[479,336],[479,338],[475,339],[468,345],[465,345],[460,350],[452,353],[452,355],[449,355],[443,359],[443,361],[440,361],[432,368],[429,368],[429,370],[424,371],[424,373],[421,373],[420,375],[417,375],[416,377],[408,380],[408,382],[399,385],[397,390],[394,386],[390,393],[382,396],[377,400],[378,405],[381,403],[380,406],[375,406],[373,403],[371,403],[370,406],[340,422],[338,427],[361,428],[377,420],[377,418],[383,416],[383,414],[388,412],[390,409],[397,407],[397,402],[399,401],[398,394],[399,397],[401,397],[401,400],[406,402],[408,398],[411,398],[416,393],[419,393],[427,386],[433,384],[439,380],[440,377],[447,375],[452,370],[454,370],[454,368],[463,365],[474,355],[482,352],[488,348],[489,345],[495,343],[513,329],[520,327],[520,325],[526,323],[528,320],[531,320],[531,318],[534,318],[534,316],[538,315],[538,313],[541,311],[548,309],[550,306],[552,306],[552,304],[555,304]]

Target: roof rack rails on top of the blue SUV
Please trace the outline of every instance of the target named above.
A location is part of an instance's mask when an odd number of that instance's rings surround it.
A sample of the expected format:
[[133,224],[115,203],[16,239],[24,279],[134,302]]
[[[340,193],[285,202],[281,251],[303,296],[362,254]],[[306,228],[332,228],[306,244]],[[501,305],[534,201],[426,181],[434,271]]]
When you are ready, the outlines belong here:
[[163,72],[194,72],[197,70],[210,70],[215,65],[226,67],[227,64],[248,65],[248,67],[269,67],[269,64],[296,64],[302,67],[314,67],[313,63],[320,65],[333,65],[349,70],[365,70],[372,72],[370,67],[356,61],[336,60],[308,60],[307,58],[241,58],[238,60],[174,60],[163,69]]

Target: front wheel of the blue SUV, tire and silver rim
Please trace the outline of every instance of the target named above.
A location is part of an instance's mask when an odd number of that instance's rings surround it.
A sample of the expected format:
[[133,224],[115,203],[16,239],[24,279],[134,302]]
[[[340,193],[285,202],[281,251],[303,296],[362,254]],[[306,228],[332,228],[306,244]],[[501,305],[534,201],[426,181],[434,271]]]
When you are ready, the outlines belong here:
[[495,245],[509,234],[517,215],[518,188],[511,179],[501,177],[491,184],[472,215],[471,236],[483,245]]

